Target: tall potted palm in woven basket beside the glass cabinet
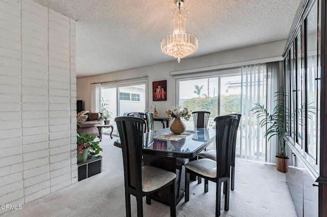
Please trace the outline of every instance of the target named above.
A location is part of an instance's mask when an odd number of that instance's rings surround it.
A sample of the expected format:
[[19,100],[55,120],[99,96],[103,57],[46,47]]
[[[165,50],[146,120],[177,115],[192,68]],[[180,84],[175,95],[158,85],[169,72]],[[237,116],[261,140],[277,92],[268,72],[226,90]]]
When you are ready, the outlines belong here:
[[279,88],[275,93],[276,105],[271,113],[268,112],[265,105],[259,102],[254,103],[255,106],[251,109],[256,115],[256,118],[261,119],[260,127],[266,130],[264,137],[272,138],[274,135],[278,137],[279,151],[276,153],[276,169],[279,172],[288,172],[288,156],[285,152],[285,105],[284,105],[284,89]]

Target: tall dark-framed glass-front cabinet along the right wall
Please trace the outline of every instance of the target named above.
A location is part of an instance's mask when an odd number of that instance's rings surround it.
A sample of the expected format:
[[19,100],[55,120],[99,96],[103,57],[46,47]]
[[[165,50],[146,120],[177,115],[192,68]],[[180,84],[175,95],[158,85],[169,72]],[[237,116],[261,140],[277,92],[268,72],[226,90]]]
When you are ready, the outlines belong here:
[[326,0],[304,1],[295,21],[283,53],[286,178],[298,216],[327,216]]

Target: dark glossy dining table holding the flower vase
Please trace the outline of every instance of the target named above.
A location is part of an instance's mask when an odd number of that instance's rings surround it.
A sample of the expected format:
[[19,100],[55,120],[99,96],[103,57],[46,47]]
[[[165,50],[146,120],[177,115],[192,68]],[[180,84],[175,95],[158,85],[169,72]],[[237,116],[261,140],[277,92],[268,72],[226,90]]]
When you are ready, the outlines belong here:
[[[216,129],[187,127],[185,132],[174,134],[169,128],[144,133],[143,164],[171,171],[176,174],[176,205],[184,196],[185,168],[189,159],[194,159],[216,140]],[[120,141],[114,145],[121,147]],[[151,199],[169,205],[169,187],[151,195]]]

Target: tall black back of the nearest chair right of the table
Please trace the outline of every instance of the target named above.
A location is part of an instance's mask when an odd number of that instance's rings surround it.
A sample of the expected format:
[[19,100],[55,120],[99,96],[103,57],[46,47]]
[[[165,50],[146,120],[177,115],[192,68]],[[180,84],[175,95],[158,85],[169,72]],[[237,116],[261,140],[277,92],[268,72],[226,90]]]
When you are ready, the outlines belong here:
[[216,122],[217,176],[229,177],[233,135],[238,117],[225,115],[216,117],[214,121]]

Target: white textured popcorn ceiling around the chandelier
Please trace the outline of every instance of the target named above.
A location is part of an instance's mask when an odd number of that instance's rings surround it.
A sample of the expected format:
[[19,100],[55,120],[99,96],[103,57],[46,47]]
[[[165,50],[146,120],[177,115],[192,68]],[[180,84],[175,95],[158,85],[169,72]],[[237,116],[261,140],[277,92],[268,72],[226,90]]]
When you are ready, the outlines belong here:
[[[78,78],[176,61],[160,50],[173,31],[174,0],[34,1],[77,20]],[[302,1],[184,0],[186,32],[199,38],[189,57],[285,40]]]

